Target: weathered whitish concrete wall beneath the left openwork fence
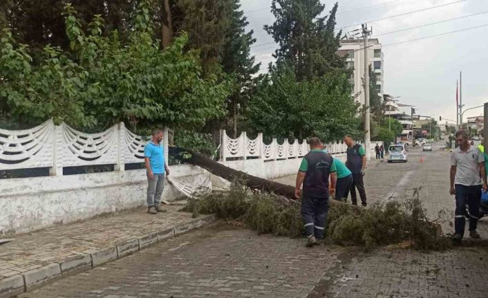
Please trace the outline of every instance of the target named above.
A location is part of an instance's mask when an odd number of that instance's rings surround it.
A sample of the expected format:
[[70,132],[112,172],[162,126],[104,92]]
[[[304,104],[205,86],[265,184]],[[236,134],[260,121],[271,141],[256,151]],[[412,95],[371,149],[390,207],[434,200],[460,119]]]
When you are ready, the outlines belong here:
[[[169,167],[182,183],[209,181],[200,167]],[[0,236],[30,232],[105,213],[120,212],[146,203],[144,169],[104,173],[0,180]],[[166,181],[164,200],[182,195]]]

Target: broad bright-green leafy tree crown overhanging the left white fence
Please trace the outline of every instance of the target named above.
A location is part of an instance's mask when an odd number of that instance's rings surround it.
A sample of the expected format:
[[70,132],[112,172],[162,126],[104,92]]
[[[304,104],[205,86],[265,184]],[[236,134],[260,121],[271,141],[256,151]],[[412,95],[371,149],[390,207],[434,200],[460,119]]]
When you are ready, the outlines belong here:
[[[74,127],[100,129],[117,122],[194,129],[225,115],[229,80],[203,78],[198,55],[185,52],[186,34],[160,50],[152,39],[149,2],[138,9],[139,22],[123,44],[116,32],[102,35],[104,21],[95,16],[88,33],[71,5],[66,6],[66,34],[71,51],[46,46],[32,63],[27,46],[0,35],[0,101],[13,117],[32,122],[54,118]],[[149,18],[150,19],[150,18]]]

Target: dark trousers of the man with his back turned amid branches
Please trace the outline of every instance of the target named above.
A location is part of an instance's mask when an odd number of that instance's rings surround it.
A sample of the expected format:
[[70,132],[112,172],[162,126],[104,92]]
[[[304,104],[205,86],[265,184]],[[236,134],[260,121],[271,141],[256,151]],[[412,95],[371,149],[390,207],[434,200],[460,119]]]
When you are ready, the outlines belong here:
[[314,235],[315,239],[323,238],[328,211],[328,198],[312,198],[309,196],[301,198],[301,218],[305,224],[307,236]]

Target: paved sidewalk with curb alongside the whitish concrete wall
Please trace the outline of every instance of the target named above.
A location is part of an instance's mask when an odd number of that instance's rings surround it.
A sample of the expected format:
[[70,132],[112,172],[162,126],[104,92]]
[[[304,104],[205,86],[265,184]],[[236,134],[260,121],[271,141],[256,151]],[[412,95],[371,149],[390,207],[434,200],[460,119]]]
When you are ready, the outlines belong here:
[[214,221],[191,218],[182,206],[167,213],[133,210],[21,234],[0,245],[0,297],[24,292],[61,275],[73,274],[136,252]]

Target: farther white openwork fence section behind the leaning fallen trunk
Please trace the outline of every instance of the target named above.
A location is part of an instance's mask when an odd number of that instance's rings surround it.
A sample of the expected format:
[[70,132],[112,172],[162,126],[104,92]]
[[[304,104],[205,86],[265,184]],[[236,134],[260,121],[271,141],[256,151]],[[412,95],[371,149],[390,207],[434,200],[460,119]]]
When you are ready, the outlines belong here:
[[[362,142],[359,142],[361,144]],[[269,145],[263,142],[263,134],[251,140],[247,138],[245,132],[241,133],[238,138],[229,138],[225,130],[220,131],[220,161],[227,159],[249,159],[261,158],[262,160],[285,160],[288,158],[301,158],[305,156],[310,147],[305,140],[301,142],[294,139],[292,143],[288,139],[279,144],[276,138],[273,138]],[[382,145],[382,142],[370,142],[370,148],[374,149],[376,145]],[[332,155],[346,153],[347,145],[342,142],[330,142],[325,145],[326,149]]]

